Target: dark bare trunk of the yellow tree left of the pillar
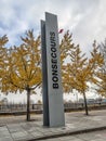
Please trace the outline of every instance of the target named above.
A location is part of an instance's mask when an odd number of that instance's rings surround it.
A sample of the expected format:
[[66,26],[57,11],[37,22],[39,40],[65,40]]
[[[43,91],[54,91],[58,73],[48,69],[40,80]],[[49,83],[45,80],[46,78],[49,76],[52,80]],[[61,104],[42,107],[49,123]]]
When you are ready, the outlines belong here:
[[30,89],[27,89],[27,116],[26,120],[30,120]]

